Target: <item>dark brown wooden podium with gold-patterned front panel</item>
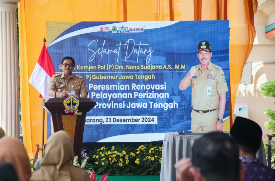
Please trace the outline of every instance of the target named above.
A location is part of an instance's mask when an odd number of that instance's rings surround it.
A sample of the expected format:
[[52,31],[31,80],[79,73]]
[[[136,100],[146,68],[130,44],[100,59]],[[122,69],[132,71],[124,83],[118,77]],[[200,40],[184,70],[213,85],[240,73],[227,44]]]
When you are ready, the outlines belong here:
[[65,99],[66,98],[49,99],[47,102],[43,102],[42,106],[51,113],[54,132],[64,130],[70,135],[74,144],[74,155],[78,156],[78,163],[81,164],[85,118],[87,112],[94,108],[96,102],[93,102],[89,98],[78,98],[78,112],[66,113],[63,104]]

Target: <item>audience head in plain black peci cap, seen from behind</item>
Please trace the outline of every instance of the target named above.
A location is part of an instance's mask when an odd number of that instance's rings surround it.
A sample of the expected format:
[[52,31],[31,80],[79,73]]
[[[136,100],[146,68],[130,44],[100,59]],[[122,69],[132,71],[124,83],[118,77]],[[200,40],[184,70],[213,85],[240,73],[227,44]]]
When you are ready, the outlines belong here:
[[230,130],[230,135],[241,148],[240,156],[256,156],[263,135],[261,127],[257,123],[238,116]]

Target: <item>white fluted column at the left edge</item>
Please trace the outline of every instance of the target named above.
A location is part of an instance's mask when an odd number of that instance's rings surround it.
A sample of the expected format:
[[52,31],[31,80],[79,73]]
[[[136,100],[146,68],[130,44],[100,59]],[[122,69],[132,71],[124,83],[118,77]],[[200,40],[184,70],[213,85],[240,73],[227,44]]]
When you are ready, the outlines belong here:
[[0,126],[20,138],[16,9],[20,0],[0,0]]

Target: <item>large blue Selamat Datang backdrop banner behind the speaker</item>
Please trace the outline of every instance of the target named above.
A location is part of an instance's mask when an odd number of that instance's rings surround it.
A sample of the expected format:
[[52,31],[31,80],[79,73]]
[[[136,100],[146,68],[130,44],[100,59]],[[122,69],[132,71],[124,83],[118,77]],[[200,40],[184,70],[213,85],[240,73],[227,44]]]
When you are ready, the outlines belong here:
[[[66,23],[72,22],[47,22],[47,36],[55,36],[47,48],[56,73],[63,57],[74,58],[73,73],[97,102],[83,142],[161,141],[165,132],[204,131],[196,114],[216,111],[214,123],[223,119],[229,131],[228,21],[78,22],[57,34]],[[204,109],[210,113],[197,112]],[[49,137],[50,114],[47,125]]]

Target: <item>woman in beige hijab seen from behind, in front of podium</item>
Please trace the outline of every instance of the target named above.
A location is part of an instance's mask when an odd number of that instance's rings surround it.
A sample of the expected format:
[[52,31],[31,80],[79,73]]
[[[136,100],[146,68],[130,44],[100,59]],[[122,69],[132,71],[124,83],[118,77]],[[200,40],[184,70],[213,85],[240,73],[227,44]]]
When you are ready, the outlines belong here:
[[45,147],[45,157],[40,169],[34,171],[32,181],[90,181],[86,170],[73,166],[73,142],[65,131],[55,132],[50,136]]

